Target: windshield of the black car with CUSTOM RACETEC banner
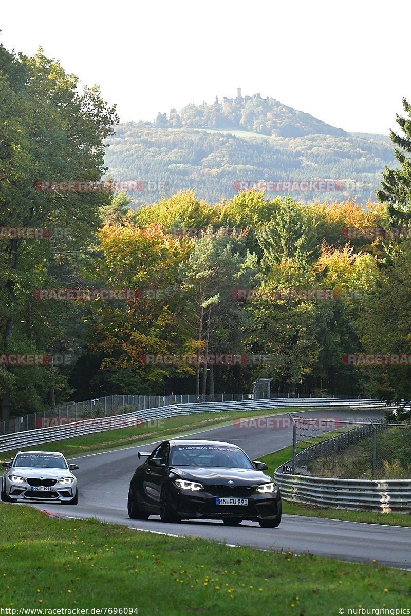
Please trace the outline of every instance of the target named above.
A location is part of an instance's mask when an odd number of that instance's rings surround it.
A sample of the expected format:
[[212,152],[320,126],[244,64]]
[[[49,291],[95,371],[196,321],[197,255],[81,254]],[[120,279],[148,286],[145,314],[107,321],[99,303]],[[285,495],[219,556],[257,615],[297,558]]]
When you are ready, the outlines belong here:
[[171,466],[254,468],[240,449],[224,445],[177,445],[171,450],[169,463]]

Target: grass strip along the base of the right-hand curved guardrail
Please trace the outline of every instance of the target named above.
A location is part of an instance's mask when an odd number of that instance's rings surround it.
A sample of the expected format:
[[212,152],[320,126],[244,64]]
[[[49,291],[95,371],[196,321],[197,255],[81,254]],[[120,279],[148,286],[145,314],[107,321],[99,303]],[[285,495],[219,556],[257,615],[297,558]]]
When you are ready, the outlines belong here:
[[[265,462],[269,468],[269,474],[274,475],[276,468],[291,460],[292,447],[285,447],[278,452],[262,456],[259,460]],[[290,503],[283,500],[283,513],[293,516],[326,517],[332,520],[346,520],[349,522],[368,522],[370,524],[389,524],[392,526],[411,526],[411,515],[401,513],[374,513],[373,511],[349,511],[348,509],[330,509],[328,507],[316,507],[315,505],[303,505]]]

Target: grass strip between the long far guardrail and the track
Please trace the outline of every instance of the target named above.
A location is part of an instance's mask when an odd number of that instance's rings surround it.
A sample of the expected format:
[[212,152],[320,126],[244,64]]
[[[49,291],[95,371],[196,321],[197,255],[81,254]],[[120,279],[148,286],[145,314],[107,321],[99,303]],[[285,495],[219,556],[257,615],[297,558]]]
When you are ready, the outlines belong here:
[[[317,410],[311,408],[310,410]],[[177,437],[179,434],[184,434],[187,431],[198,429],[201,431],[205,428],[218,428],[219,426],[229,425],[234,419],[248,419],[253,417],[261,417],[266,415],[282,415],[283,413],[301,412],[301,408],[275,408],[272,410],[253,411],[251,415],[247,415],[245,411],[218,411],[216,413],[191,413],[190,415],[180,415],[177,417],[169,417],[168,419],[156,420],[155,428],[153,421],[148,421],[130,428],[118,428],[115,430],[106,430],[104,432],[95,432],[86,436],[76,436],[67,440],[57,440],[44,445],[31,445],[30,447],[21,447],[24,450],[41,450],[53,451],[58,450],[67,457],[75,457],[89,452],[107,451],[116,447],[127,447],[128,445],[139,445],[144,442],[152,442],[161,438]],[[119,419],[121,415],[119,415]],[[6,460],[14,455],[17,449],[10,452],[0,453],[0,458]]]

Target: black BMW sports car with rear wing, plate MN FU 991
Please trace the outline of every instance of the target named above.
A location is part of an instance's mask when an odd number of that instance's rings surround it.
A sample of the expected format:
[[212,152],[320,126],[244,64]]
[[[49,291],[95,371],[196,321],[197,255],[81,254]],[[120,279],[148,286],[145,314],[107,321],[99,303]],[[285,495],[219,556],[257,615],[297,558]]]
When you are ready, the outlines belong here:
[[237,445],[213,440],[166,440],[137,467],[128,493],[128,514],[163,522],[219,519],[235,526],[255,520],[274,528],[281,521],[277,484]]

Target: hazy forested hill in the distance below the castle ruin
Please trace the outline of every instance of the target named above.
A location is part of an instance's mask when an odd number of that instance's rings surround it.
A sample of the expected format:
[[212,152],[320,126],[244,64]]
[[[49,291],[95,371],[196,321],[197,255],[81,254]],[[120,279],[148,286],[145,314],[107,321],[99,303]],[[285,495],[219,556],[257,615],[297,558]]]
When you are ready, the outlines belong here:
[[130,193],[134,207],[189,188],[216,203],[233,197],[239,180],[336,180],[336,192],[295,197],[367,201],[394,164],[388,136],[348,134],[274,99],[187,105],[155,123],[120,124],[108,142],[113,179],[162,183],[157,192]]

